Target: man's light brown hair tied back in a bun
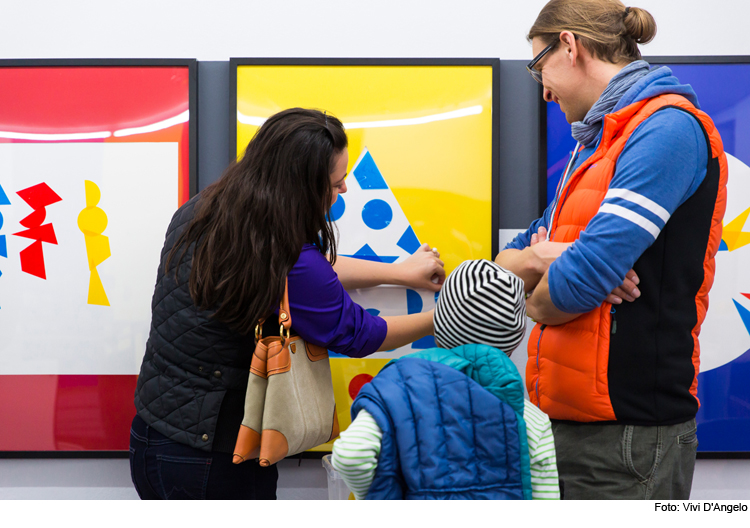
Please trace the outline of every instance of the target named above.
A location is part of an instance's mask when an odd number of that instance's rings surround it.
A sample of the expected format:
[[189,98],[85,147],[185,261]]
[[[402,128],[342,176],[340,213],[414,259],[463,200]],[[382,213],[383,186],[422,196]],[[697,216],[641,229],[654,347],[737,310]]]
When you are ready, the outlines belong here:
[[570,31],[591,54],[613,64],[640,60],[638,44],[656,36],[651,13],[619,0],[552,0],[542,8],[527,38],[549,45]]

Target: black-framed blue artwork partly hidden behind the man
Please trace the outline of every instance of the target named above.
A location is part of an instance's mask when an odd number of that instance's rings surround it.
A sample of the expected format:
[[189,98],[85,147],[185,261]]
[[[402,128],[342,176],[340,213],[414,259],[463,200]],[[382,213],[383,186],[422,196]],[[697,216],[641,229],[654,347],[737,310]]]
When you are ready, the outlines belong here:
[[[704,458],[750,457],[750,57],[646,57],[690,84],[713,119],[729,165],[727,210],[709,310],[701,328],[698,375],[698,453]],[[547,204],[575,140],[565,115],[545,105]]]

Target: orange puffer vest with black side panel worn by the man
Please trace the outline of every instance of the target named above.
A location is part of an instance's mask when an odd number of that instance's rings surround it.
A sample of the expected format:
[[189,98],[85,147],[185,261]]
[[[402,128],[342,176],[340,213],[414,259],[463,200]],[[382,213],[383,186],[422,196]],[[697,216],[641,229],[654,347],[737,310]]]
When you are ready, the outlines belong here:
[[689,112],[701,124],[710,145],[706,177],[636,262],[636,302],[617,306],[616,315],[605,302],[569,323],[533,329],[526,383],[531,401],[550,418],[666,425],[698,411],[698,334],[726,207],[726,156],[711,119],[672,94],[605,116],[598,148],[560,193],[550,232],[555,242],[578,239],[604,200],[628,138],[664,108]]

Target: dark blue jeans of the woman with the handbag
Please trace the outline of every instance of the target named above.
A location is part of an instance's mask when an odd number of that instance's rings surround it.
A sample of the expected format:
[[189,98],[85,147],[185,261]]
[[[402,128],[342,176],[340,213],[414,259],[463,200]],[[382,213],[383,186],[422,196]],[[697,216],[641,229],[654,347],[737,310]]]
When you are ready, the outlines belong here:
[[141,499],[276,499],[276,466],[232,464],[156,432],[137,416],[130,429],[130,474]]

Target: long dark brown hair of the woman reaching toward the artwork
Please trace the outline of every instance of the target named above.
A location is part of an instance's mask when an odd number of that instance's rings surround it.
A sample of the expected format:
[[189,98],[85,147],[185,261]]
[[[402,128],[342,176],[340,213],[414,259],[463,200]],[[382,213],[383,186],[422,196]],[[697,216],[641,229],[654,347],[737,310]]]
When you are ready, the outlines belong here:
[[182,260],[194,245],[189,288],[200,309],[215,310],[217,320],[247,334],[279,302],[303,244],[335,262],[330,174],[346,146],[335,117],[284,110],[268,118],[242,159],[201,192],[166,263],[169,269],[179,248]]

